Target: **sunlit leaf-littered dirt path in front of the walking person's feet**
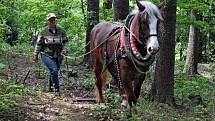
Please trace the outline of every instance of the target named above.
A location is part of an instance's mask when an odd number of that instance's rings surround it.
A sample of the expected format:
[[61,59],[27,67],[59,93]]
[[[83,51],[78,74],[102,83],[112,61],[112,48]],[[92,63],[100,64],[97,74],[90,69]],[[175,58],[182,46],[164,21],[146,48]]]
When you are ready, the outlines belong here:
[[95,121],[90,111],[95,104],[74,102],[70,97],[55,97],[53,94],[42,93],[38,97],[28,97],[22,106],[27,109],[27,117],[43,121]]

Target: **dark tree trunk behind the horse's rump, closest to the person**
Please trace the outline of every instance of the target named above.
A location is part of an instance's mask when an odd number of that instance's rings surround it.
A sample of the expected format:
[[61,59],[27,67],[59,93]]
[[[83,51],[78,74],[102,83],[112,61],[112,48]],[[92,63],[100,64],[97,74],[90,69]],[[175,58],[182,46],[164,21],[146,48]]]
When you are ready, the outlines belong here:
[[[90,51],[90,32],[92,28],[99,23],[99,0],[87,0],[87,30],[85,51]],[[90,55],[84,56],[84,63],[90,64]]]

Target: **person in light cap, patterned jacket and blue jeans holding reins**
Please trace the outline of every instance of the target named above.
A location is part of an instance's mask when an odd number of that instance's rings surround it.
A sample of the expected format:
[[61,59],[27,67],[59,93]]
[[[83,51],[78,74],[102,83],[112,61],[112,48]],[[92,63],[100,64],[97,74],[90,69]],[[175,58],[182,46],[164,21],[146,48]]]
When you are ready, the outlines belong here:
[[60,96],[59,69],[63,56],[67,55],[68,38],[66,31],[57,26],[56,15],[47,15],[48,26],[39,33],[35,50],[34,61],[38,62],[38,55],[41,53],[43,64],[48,68],[49,91],[54,91],[56,96]]

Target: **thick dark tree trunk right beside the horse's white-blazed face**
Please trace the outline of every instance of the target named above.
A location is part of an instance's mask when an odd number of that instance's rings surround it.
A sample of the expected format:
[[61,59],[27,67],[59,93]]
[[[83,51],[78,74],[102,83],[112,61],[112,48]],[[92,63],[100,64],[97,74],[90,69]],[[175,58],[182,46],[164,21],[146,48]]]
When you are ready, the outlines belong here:
[[[160,0],[162,2],[163,0]],[[160,51],[157,56],[155,79],[151,88],[152,99],[175,105],[174,65],[176,0],[168,0],[161,8],[164,21],[159,26]]]

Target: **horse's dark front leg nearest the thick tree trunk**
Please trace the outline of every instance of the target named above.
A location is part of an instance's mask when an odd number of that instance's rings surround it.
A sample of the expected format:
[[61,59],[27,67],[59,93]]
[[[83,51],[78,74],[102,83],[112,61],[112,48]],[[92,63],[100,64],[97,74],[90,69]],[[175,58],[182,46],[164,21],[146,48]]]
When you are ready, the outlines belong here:
[[143,84],[143,81],[145,80],[145,77],[146,77],[146,74],[143,74],[141,75],[140,78],[134,80],[134,93],[137,99],[140,96],[141,86]]

